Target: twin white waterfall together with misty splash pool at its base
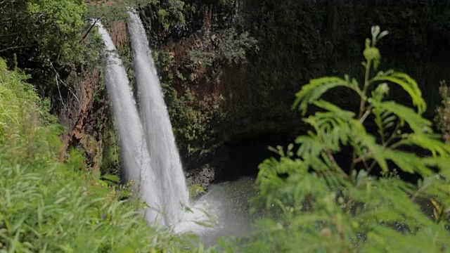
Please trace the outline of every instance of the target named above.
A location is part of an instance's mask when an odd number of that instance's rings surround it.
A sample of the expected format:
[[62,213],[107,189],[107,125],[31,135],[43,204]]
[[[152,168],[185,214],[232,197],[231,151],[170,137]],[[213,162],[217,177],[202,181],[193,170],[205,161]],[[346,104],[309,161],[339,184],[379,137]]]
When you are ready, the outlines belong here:
[[[108,51],[105,80],[120,131],[124,174],[134,181],[136,193],[150,207],[144,210],[146,220],[171,226],[177,233],[197,233],[208,244],[219,235],[247,233],[254,179],[212,185],[199,200],[188,202],[184,172],[146,33],[139,16],[133,12],[129,15],[139,106],[108,31],[101,24],[98,30]],[[212,227],[203,226],[205,223]]]

